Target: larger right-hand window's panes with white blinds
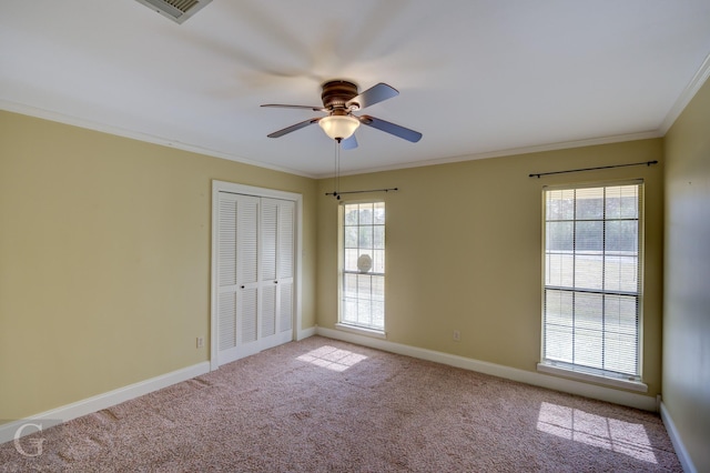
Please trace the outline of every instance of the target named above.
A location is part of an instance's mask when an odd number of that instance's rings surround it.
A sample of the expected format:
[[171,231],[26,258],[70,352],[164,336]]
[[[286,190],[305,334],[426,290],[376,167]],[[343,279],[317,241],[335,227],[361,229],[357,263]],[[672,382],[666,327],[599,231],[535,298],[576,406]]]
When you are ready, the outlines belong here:
[[639,382],[643,184],[545,190],[542,365]]

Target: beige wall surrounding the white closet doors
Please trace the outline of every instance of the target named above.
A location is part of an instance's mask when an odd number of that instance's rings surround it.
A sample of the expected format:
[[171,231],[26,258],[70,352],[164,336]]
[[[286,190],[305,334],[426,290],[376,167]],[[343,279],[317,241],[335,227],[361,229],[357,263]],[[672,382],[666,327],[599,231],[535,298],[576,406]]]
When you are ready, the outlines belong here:
[[213,179],[303,194],[312,326],[314,180],[0,112],[0,420],[209,359]]

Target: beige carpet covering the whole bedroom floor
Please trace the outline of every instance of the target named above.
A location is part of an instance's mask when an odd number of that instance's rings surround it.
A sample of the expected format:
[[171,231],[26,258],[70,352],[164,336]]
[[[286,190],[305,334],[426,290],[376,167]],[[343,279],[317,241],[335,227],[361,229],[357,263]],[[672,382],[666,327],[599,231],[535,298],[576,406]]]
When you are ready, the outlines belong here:
[[682,471],[656,414],[320,336],[42,437],[0,445],[0,470]]

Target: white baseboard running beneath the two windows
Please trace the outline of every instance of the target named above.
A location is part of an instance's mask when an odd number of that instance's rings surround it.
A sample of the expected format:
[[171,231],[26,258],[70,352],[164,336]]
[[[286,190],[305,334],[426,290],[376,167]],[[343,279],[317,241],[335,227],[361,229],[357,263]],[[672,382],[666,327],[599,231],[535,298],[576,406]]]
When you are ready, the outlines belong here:
[[316,333],[329,339],[343,340],[345,342],[356,343],[358,345],[369,346],[377,350],[434,361],[436,363],[448,364],[450,366],[463,368],[465,370],[476,371],[479,373],[491,374],[494,376],[519,381],[535,386],[612,402],[615,404],[641,409],[645,411],[656,412],[658,410],[656,397],[648,395],[619,391],[597,384],[582,383],[532,371],[518,370],[516,368],[504,366],[501,364],[488,363],[486,361],[474,360],[470,358],[427,349],[419,349],[356,333],[325,329],[323,326],[316,328]]

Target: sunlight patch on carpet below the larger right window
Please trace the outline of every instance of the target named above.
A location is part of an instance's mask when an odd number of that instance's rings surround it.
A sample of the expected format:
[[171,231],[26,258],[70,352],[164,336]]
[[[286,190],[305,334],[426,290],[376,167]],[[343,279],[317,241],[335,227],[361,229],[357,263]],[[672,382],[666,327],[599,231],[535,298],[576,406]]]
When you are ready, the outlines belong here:
[[623,453],[643,462],[658,463],[646,429],[641,424],[544,402],[540,405],[537,430]]

